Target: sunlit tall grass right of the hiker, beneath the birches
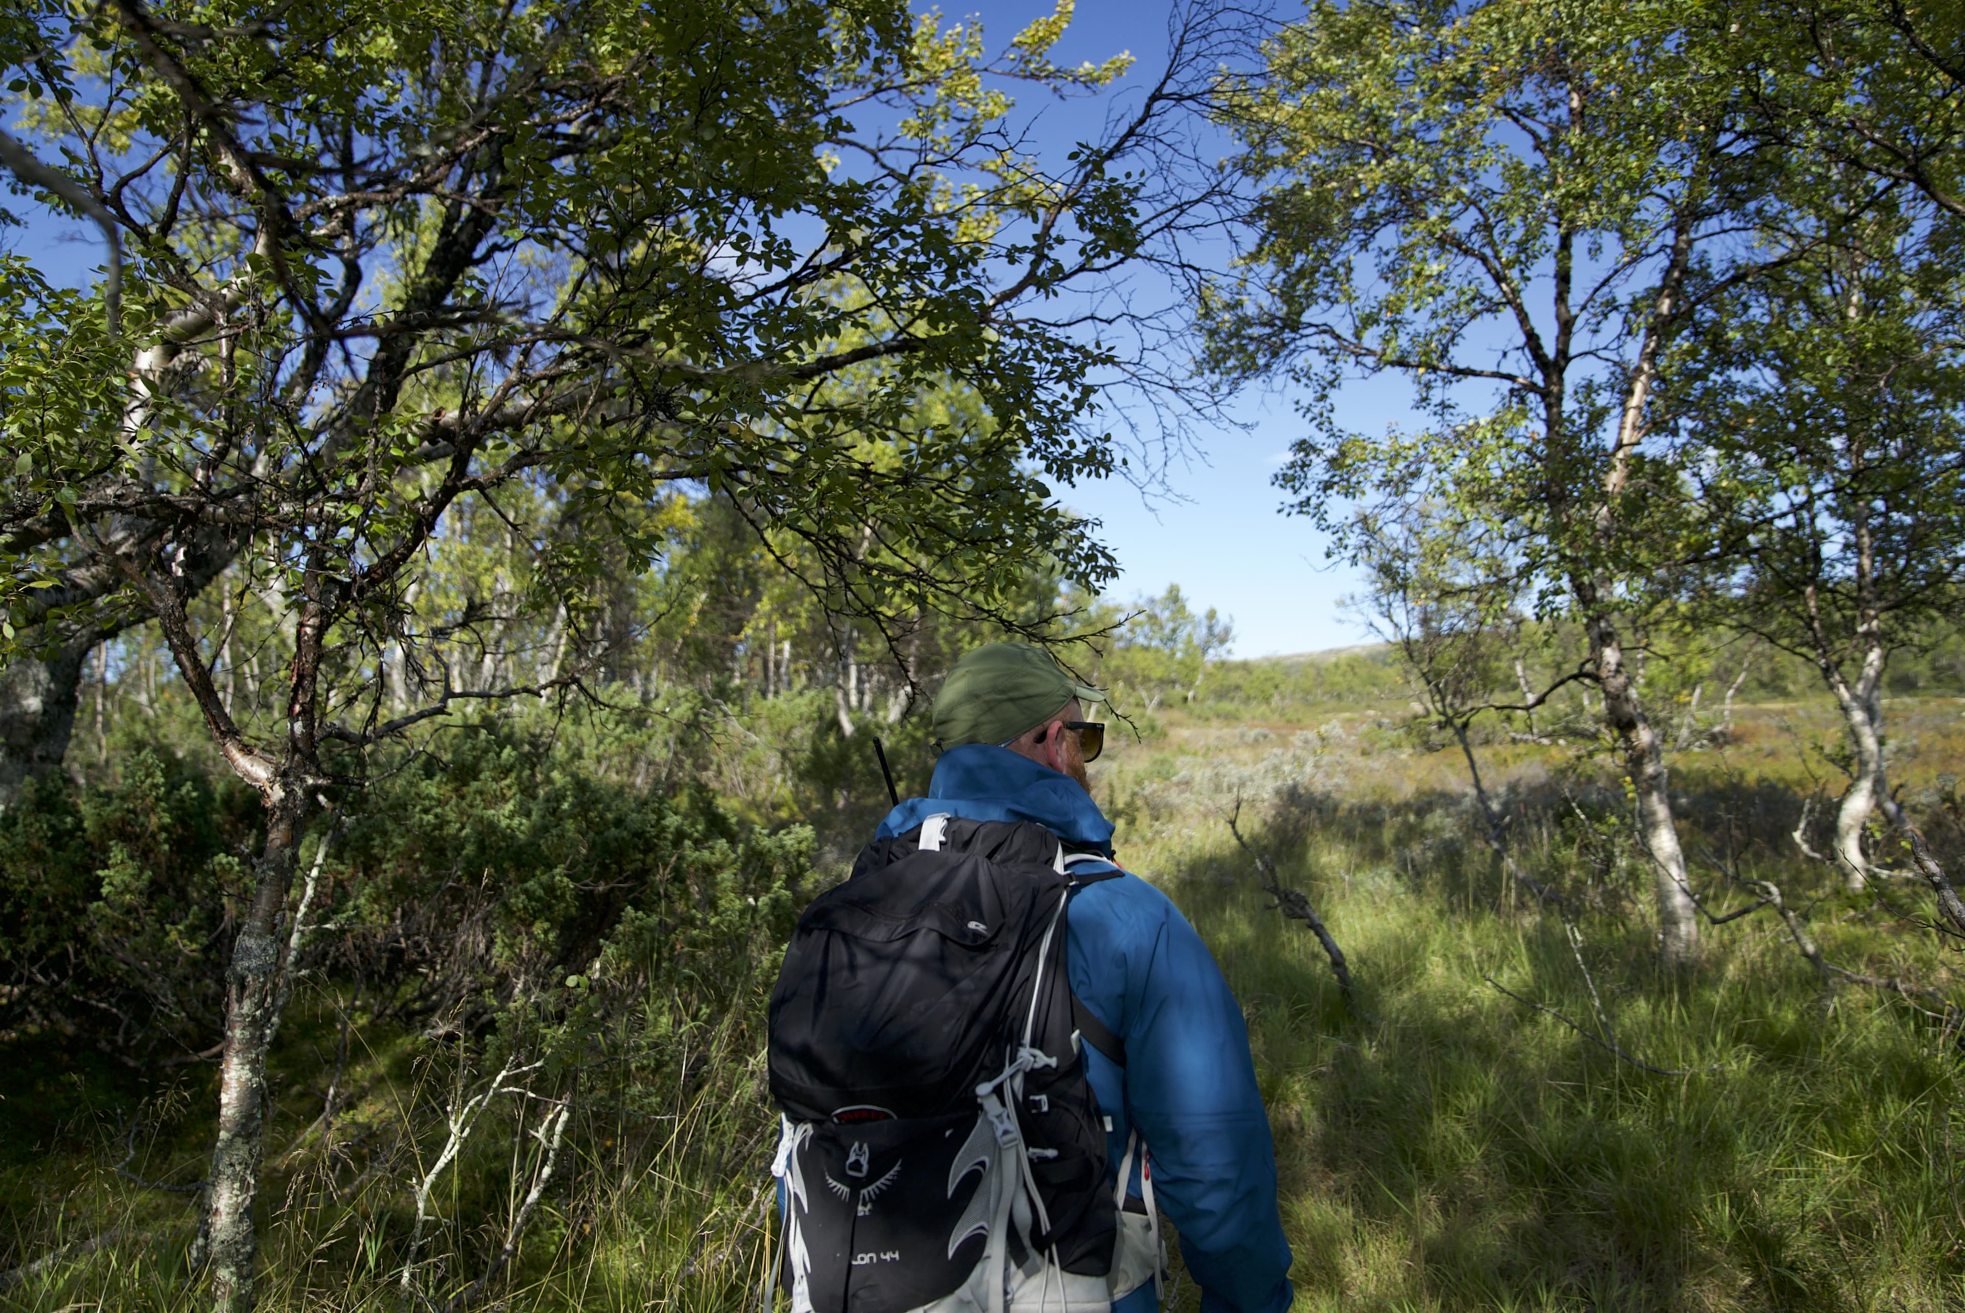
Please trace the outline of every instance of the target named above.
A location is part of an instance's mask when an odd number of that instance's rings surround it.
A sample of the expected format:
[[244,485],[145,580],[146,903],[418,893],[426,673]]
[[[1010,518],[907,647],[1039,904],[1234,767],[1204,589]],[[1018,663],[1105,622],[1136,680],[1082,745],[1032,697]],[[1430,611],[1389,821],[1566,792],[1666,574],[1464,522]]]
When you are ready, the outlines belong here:
[[[1682,763],[1688,845],[1786,883],[1831,961],[1955,993],[1932,936],[1794,857],[1784,715],[1761,714],[1733,761]],[[1926,769],[1953,717],[1914,731]],[[1106,780],[1140,822],[1128,865],[1167,877],[1244,1002],[1299,1307],[1965,1305],[1965,1054],[1943,1012],[1825,993],[1770,912],[1708,928],[1702,969],[1660,977],[1615,780],[1550,782],[1560,761],[1505,749],[1517,853],[1584,908],[1578,965],[1564,920],[1511,898],[1476,843],[1448,759],[1358,729],[1175,739]],[[1238,794],[1269,798],[1283,883],[1350,957],[1354,1010],[1230,841]],[[1621,1061],[1489,975],[1586,1030],[1594,983],[1621,1048],[1690,1073]]]

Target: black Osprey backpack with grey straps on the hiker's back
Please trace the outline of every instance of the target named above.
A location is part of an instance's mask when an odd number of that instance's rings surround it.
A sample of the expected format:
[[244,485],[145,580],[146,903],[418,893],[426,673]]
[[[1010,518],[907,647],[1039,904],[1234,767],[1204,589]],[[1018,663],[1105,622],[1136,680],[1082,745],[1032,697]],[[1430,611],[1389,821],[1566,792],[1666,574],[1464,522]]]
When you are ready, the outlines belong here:
[[1006,1264],[1108,1272],[1079,1044],[1116,1038],[1065,977],[1071,863],[1041,826],[931,816],[798,920],[770,995],[794,1313],[902,1313],[965,1284],[1000,1309]]

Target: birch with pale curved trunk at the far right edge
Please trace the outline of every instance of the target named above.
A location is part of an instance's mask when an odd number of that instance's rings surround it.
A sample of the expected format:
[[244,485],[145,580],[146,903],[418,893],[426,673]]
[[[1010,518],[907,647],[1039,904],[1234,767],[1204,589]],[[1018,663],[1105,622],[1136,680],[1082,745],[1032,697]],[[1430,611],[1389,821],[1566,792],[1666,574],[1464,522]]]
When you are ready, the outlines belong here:
[[1965,576],[1965,287],[1916,191],[1865,200],[1829,232],[1798,208],[1767,234],[1810,254],[1682,344],[1664,407],[1704,454],[1727,562],[1706,613],[1796,653],[1835,698],[1849,788],[1827,857],[1851,890],[1888,796],[1888,660],[1936,637]]

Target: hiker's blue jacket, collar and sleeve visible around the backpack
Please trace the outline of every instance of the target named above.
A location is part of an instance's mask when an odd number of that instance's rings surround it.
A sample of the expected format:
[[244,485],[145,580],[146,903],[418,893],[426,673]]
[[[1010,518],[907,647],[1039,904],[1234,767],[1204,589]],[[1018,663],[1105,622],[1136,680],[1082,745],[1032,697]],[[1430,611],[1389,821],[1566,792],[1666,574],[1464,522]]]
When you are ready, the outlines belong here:
[[[888,812],[880,835],[906,833],[935,812],[1038,822],[1112,855],[1112,822],[1075,780],[988,743],[943,753],[927,796]],[[1293,1291],[1275,1144],[1242,1008],[1220,967],[1179,908],[1132,875],[1079,890],[1069,926],[1071,989],[1126,1042],[1124,1067],[1085,1048],[1093,1093],[1112,1118],[1108,1171],[1118,1173],[1126,1134],[1138,1126],[1153,1158],[1155,1203],[1201,1282],[1203,1313],[1283,1313]],[[1140,1193],[1138,1168],[1130,1187]],[[1151,1307],[1148,1284],[1114,1311]]]

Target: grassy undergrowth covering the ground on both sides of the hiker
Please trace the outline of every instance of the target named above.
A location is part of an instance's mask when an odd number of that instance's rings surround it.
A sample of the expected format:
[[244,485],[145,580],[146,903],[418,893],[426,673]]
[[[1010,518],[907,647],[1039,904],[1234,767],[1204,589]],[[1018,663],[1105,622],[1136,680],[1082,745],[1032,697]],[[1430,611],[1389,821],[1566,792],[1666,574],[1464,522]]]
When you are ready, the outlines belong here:
[[[1961,704],[1906,700],[1892,717],[1906,802],[1957,855]],[[1922,906],[1908,885],[1843,892],[1792,837],[1810,792],[1835,786],[1812,747],[1833,743],[1829,710],[1747,708],[1678,753],[1698,890],[1723,916],[1755,902],[1727,871],[1774,881],[1824,963],[1904,991],[1824,981],[1772,908],[1706,926],[1700,967],[1660,975],[1641,849],[1594,757],[1480,749],[1515,859],[1562,896],[1544,906],[1482,843],[1458,753],[1397,721],[1169,710],[1095,767],[1120,859],[1195,920],[1244,1002],[1299,1307],[1965,1303],[1951,963],[1898,914]],[[831,790],[853,800],[817,818],[817,849],[796,831],[774,849],[762,885],[782,906],[731,885],[733,853],[751,851],[737,822],[688,829],[690,851],[723,857],[676,885],[668,912],[643,908],[660,922],[645,949],[666,965],[554,981],[556,1010],[509,1006],[446,1034],[432,1018],[456,1010],[407,1024],[413,1010],[391,1020],[346,971],[305,981],[275,1057],[261,1307],[760,1307],[776,1130],[762,1004],[784,916],[837,879],[835,855],[874,814],[872,778]],[[635,796],[558,824],[593,826]],[[497,810],[483,794],[458,806]],[[1315,936],[1262,892],[1230,818],[1322,914],[1350,1000]],[[362,861],[375,843],[352,831],[342,851]],[[674,898],[725,908],[715,938]],[[470,989],[511,997],[489,975]],[[609,1006],[582,1002],[601,995]],[[187,1187],[208,1152],[212,1065],[138,1075],[49,1036],[8,1050],[0,1307],[198,1307]],[[1179,1272],[1171,1303],[1199,1307]]]

